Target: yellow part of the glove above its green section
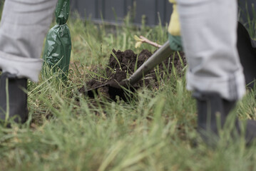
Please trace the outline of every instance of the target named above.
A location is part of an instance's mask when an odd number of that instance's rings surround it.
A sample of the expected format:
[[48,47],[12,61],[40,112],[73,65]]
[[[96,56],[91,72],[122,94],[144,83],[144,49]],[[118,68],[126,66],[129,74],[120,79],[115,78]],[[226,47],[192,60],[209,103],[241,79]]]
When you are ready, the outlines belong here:
[[175,0],[169,0],[173,3],[173,14],[170,16],[170,24],[168,27],[168,32],[173,36],[180,36],[180,21],[177,10],[177,4]]

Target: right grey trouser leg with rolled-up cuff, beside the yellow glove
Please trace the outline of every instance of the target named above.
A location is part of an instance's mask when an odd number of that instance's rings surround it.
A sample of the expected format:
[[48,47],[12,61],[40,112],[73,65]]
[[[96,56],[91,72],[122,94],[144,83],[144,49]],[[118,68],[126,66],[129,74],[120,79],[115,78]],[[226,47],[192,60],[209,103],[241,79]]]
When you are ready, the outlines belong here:
[[237,53],[236,0],[177,0],[188,90],[220,93],[237,100],[245,76]]

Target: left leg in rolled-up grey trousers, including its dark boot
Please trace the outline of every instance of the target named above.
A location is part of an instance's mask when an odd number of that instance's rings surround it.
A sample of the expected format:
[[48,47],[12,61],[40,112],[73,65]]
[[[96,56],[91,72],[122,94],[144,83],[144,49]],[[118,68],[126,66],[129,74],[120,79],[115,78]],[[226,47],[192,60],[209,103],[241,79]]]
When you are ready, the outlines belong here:
[[[26,81],[38,81],[41,49],[57,0],[6,0],[0,24],[0,119],[24,123]],[[7,115],[6,115],[7,114]]]

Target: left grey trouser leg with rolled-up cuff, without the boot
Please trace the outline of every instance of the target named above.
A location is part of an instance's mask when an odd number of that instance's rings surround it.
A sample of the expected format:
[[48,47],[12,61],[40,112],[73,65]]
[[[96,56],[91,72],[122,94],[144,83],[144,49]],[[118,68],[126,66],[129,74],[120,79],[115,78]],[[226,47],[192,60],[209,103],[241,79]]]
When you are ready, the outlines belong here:
[[0,68],[38,81],[43,38],[57,0],[6,0],[0,24]]

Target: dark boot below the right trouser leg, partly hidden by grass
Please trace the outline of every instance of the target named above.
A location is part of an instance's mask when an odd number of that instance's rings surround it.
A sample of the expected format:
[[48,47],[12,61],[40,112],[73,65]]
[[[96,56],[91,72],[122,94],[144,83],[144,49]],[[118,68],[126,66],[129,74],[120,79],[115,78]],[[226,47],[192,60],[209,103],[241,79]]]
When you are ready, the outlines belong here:
[[[198,133],[208,145],[215,145],[219,130],[223,128],[230,111],[235,107],[235,100],[225,100],[218,93],[195,92],[193,97],[198,107]],[[249,145],[256,138],[256,121],[247,120],[245,140]],[[242,124],[235,117],[234,130],[231,133],[242,134]],[[233,136],[233,135],[232,135]]]

